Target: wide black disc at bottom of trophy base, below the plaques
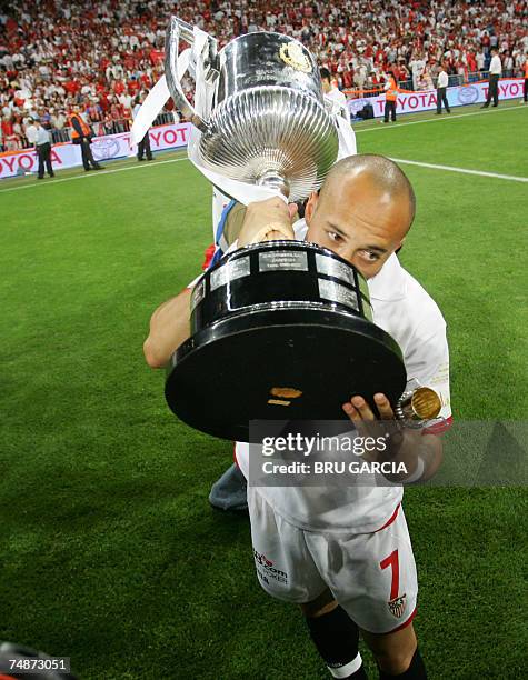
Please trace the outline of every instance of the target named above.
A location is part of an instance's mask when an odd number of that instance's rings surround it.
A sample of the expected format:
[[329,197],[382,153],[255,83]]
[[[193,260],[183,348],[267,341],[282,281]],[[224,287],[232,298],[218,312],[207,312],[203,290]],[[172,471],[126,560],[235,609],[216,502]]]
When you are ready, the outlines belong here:
[[393,403],[406,386],[401,352],[373,323],[332,309],[272,309],[225,318],[173,354],[170,409],[187,424],[250,441],[250,420],[345,420],[353,394]]

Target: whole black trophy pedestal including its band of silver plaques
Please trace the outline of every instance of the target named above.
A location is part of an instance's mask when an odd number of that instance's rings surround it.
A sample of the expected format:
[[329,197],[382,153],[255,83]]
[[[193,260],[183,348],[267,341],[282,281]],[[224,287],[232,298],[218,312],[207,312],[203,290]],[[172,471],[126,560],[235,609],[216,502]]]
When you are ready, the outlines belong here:
[[396,402],[405,386],[401,351],[372,323],[361,274],[313,243],[270,241],[201,277],[165,392],[187,424],[249,441],[250,420],[346,420],[351,396]]

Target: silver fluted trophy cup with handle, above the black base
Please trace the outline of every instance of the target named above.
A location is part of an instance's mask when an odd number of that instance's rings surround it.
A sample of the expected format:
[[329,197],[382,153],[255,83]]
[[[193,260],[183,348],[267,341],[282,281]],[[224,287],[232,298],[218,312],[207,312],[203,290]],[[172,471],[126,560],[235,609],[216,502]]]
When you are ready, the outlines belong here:
[[[181,88],[180,41],[195,48],[196,102]],[[201,131],[203,166],[229,179],[277,188],[290,201],[322,184],[337,159],[336,123],[310,52],[281,33],[217,40],[172,17],[166,78],[176,106]]]

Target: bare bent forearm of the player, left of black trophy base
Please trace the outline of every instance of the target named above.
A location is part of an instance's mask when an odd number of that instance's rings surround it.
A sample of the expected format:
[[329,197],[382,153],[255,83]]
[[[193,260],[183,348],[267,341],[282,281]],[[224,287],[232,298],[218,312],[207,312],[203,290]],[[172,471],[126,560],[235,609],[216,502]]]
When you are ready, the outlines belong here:
[[160,304],[150,318],[150,332],[143,353],[150,368],[165,368],[175,350],[190,336],[190,297],[192,288]]

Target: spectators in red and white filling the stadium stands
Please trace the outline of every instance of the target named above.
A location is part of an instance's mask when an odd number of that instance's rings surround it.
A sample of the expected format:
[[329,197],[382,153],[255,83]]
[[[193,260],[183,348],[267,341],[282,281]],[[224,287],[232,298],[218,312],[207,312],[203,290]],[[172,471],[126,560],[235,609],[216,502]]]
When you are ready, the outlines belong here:
[[172,13],[220,47],[246,32],[286,32],[358,94],[382,89],[388,69],[405,89],[431,89],[441,63],[461,82],[477,80],[494,47],[504,74],[517,76],[528,53],[527,0],[11,0],[0,9],[0,151],[30,146],[29,118],[68,139],[76,104],[97,134],[128,129],[136,97],[163,72]]

